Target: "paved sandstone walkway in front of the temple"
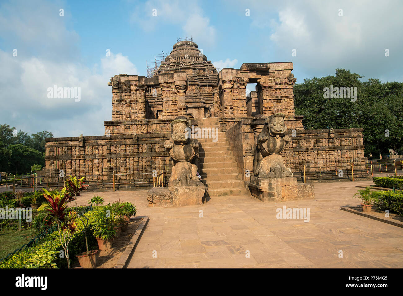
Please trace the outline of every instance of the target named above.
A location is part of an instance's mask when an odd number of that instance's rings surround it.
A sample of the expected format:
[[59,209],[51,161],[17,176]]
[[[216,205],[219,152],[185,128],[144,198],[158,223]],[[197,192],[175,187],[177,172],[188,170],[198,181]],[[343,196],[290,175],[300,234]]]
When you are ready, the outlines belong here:
[[[106,202],[131,201],[139,215],[150,217],[130,268],[401,268],[402,228],[340,210],[359,205],[352,198],[355,185],[369,184],[314,184],[314,200],[263,203],[251,196],[231,196],[214,197],[202,206],[172,208],[147,207],[146,190],[96,195]],[[83,193],[80,203],[93,195]],[[276,209],[283,206],[309,208],[309,222],[277,219]]]

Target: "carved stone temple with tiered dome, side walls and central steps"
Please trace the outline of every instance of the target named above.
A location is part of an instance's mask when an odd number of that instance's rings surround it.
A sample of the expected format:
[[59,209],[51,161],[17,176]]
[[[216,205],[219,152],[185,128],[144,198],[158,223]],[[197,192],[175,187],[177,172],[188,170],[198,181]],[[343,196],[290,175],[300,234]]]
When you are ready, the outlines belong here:
[[[153,77],[110,79],[112,120],[105,135],[46,139],[44,176],[87,176],[91,187],[152,186],[153,170],[168,182],[172,158],[164,147],[170,122],[185,116],[198,138],[193,163],[210,197],[250,194],[256,141],[265,120],[283,114],[291,139],[279,153],[300,182],[368,176],[362,129],[305,130],[295,115],[292,62],[244,63],[217,72],[191,40],[178,41]],[[256,91],[245,95],[248,83]],[[281,119],[281,118],[280,118]],[[339,170],[343,170],[340,177]]]

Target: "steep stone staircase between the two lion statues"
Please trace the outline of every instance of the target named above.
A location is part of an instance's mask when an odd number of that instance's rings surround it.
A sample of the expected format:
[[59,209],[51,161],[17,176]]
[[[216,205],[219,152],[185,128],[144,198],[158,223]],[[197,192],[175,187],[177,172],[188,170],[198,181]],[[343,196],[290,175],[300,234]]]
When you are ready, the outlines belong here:
[[198,139],[199,173],[207,182],[208,196],[250,195],[239,173],[225,132],[220,131],[218,118],[202,118],[197,121],[199,128],[214,128],[219,131],[216,142],[213,142],[214,139]]

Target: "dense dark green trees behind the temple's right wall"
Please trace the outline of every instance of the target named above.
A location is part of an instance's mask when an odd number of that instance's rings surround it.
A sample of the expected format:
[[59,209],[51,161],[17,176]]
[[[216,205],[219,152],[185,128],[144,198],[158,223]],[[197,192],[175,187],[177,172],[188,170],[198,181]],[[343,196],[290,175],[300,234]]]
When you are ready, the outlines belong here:
[[[359,81],[362,76],[336,69],[336,76],[304,79],[294,87],[295,114],[306,129],[364,128],[364,153],[403,150],[403,83]],[[357,100],[325,98],[324,88],[357,87]]]

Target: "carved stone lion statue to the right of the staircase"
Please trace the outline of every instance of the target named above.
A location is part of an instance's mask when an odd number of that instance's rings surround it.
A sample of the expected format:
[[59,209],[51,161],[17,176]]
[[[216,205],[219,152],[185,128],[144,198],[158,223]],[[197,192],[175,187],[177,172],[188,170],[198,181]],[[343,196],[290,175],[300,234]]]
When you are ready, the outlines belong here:
[[258,135],[254,175],[259,178],[292,177],[290,168],[286,168],[280,153],[284,150],[290,137],[285,133],[285,115],[275,113],[266,118],[264,127]]

